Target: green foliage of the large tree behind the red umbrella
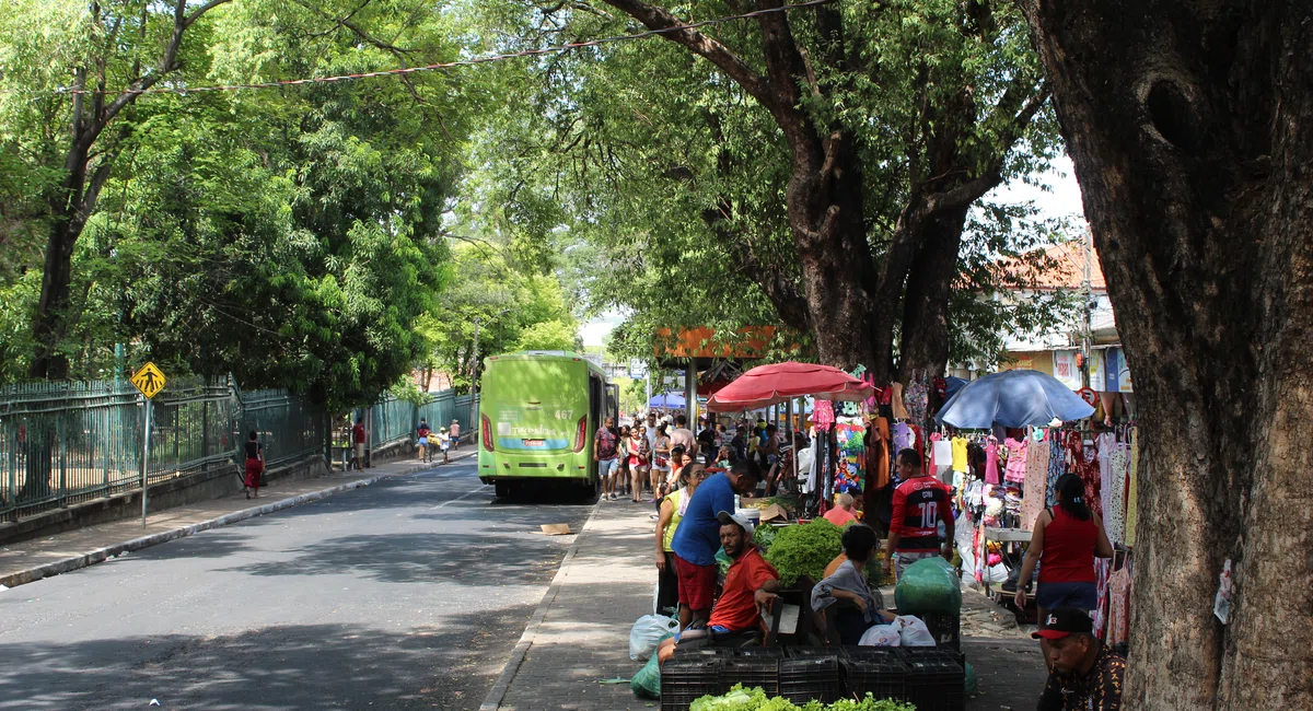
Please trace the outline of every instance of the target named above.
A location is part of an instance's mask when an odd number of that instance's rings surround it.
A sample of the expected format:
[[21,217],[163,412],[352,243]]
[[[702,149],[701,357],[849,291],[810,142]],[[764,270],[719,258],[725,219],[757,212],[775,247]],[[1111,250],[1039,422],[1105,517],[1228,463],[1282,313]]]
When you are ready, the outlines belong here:
[[[655,4],[684,18],[734,8],[718,0]],[[789,13],[790,29],[817,73],[817,91],[804,94],[826,126],[822,134],[840,126],[861,146],[867,236],[877,262],[915,190],[982,174],[999,153],[1001,180],[1023,180],[1061,151],[1048,109],[1011,143],[1008,119],[1040,79],[1011,3],[844,3],[840,12],[850,62],[825,62],[814,10]],[[498,49],[633,29],[601,3],[492,0],[475,14]],[[759,24],[702,31],[763,71]],[[651,354],[663,327],[705,324],[727,336],[789,321],[768,286],[805,291],[784,210],[792,156],[769,113],[739,87],[688,50],[649,39],[553,55],[506,88],[516,98],[492,119],[496,131],[478,138],[481,168],[471,176],[499,199],[471,219],[570,257],[567,289],[586,295],[591,314],[626,312],[616,356]],[[935,148],[947,131],[957,139]],[[940,153],[955,164],[948,176],[936,172]],[[551,209],[540,209],[549,198]],[[956,361],[993,361],[1001,332],[1065,316],[1070,304],[1056,296],[1001,306],[995,293],[1025,285],[982,266],[1061,235],[1035,220],[1033,207],[978,202],[952,282]],[[807,358],[810,344],[809,333],[786,331],[772,348]]]

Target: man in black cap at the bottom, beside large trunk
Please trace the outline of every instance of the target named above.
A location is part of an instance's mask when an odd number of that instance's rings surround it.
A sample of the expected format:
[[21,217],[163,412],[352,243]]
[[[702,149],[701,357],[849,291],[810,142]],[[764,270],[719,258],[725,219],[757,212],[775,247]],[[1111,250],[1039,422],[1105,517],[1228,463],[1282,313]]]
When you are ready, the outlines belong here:
[[1040,711],[1116,711],[1127,660],[1094,636],[1090,615],[1073,607],[1050,610],[1039,632],[1046,641],[1049,681]]

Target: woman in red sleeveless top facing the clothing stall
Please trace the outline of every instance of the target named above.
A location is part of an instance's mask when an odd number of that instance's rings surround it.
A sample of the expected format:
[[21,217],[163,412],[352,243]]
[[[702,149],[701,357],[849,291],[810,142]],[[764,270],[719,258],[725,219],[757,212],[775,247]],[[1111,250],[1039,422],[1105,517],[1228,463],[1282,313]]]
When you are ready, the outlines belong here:
[[1031,547],[1016,585],[1016,606],[1025,609],[1025,588],[1035,564],[1040,564],[1040,585],[1035,603],[1040,619],[1057,607],[1094,610],[1099,605],[1094,559],[1112,558],[1112,543],[1103,531],[1103,521],[1085,502],[1085,481],[1077,474],[1065,474],[1054,484],[1058,505],[1046,509],[1035,521]]

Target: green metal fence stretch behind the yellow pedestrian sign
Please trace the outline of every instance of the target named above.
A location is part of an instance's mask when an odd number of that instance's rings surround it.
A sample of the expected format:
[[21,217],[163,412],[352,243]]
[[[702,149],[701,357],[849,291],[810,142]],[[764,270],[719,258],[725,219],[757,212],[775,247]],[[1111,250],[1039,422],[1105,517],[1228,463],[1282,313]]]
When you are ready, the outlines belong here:
[[[232,467],[249,430],[270,464],[327,447],[326,413],[285,391],[180,378],[152,407],[151,483]],[[0,388],[0,521],[140,489],[144,412],[126,380]]]

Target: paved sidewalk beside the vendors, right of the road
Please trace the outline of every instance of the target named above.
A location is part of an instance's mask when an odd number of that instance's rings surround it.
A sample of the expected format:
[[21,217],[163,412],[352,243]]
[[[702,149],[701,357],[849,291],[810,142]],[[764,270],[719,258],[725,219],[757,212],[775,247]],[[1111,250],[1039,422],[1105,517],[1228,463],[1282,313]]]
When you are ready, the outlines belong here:
[[[651,613],[656,584],[651,504],[601,501],[566,555],[520,647],[481,711],[647,710],[629,683],[629,628]],[[892,603],[893,590],[885,593]],[[1033,708],[1046,673],[1039,644],[974,590],[962,590],[962,651],[979,693],[968,710]],[[523,657],[521,657],[523,655]]]

